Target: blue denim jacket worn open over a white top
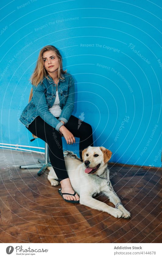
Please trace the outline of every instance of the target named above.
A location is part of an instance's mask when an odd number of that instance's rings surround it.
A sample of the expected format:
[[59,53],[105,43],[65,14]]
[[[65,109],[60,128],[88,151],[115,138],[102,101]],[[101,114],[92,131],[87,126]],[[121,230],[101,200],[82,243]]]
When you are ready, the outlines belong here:
[[[39,115],[47,124],[59,131],[63,125],[60,121],[64,121],[65,124],[68,122],[74,110],[74,79],[69,73],[63,76],[64,79],[59,79],[57,85],[49,75],[48,79],[44,76],[42,84],[38,84],[37,87],[33,85],[33,96],[19,118],[22,124],[29,127]],[[62,110],[58,119],[49,111],[56,98],[56,86]]]

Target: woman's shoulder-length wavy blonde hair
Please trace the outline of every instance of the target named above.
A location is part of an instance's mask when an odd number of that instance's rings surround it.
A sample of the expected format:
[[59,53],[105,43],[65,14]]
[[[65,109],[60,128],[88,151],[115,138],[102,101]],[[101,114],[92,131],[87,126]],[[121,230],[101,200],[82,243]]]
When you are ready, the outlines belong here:
[[35,68],[32,76],[30,77],[31,83],[34,86],[38,86],[39,83],[43,82],[43,77],[45,76],[47,78],[47,76],[49,75],[48,72],[46,71],[45,67],[44,67],[43,53],[46,52],[46,51],[50,51],[50,50],[52,50],[56,53],[56,55],[58,57],[58,60],[59,60],[57,80],[58,79],[64,79],[64,77],[62,77],[62,74],[67,73],[67,70],[64,71],[63,68],[62,68],[62,56],[61,56],[59,50],[55,46],[52,46],[52,45],[44,46],[40,50],[38,60],[37,60],[37,63],[36,63],[36,68]]

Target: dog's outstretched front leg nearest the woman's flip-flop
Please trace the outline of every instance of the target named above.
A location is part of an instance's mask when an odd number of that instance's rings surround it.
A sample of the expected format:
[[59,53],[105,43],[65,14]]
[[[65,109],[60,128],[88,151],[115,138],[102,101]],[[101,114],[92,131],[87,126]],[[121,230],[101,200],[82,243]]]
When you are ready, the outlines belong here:
[[105,204],[102,201],[98,201],[90,195],[80,195],[80,204],[86,205],[90,208],[102,211],[102,212],[107,212],[110,215],[114,216],[115,218],[120,218],[122,217],[123,213],[119,209],[115,209],[113,207],[110,207],[109,205]]

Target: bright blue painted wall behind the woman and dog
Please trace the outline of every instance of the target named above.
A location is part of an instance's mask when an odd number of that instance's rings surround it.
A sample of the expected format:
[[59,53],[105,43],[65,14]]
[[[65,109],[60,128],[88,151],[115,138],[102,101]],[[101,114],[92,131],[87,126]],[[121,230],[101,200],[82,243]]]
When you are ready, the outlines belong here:
[[1,143],[44,147],[18,119],[38,53],[54,45],[94,146],[112,150],[112,162],[161,167],[161,1],[57,2],[1,3]]

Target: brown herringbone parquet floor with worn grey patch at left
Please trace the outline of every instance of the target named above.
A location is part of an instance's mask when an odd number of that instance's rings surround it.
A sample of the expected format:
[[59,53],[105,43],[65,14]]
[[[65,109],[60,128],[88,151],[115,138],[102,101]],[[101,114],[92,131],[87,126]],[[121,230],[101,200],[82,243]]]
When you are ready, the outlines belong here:
[[[116,172],[112,185],[132,215],[127,220],[65,202],[60,186],[47,180],[48,170],[38,177],[36,169],[20,170],[24,162],[13,167],[9,160],[22,155],[31,164],[39,154],[9,152],[4,151],[8,163],[1,159],[0,167],[2,243],[161,243],[161,170],[110,167],[110,175]],[[104,196],[97,199],[112,205]]]

